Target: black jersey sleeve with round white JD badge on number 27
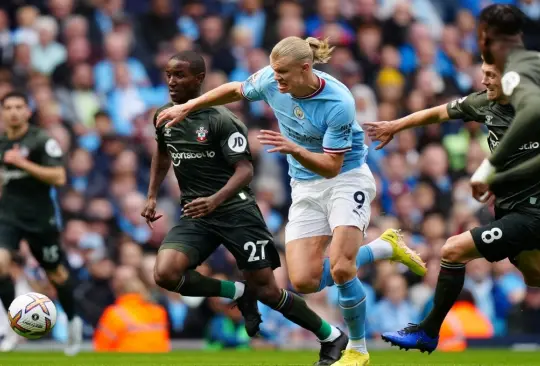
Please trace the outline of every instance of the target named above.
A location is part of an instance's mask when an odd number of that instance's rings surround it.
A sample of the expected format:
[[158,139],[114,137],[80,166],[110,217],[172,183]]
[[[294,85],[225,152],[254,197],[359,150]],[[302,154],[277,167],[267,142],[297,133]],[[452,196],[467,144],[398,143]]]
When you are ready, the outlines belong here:
[[212,116],[212,127],[219,138],[225,160],[233,165],[240,160],[252,160],[246,126],[231,111],[220,108]]

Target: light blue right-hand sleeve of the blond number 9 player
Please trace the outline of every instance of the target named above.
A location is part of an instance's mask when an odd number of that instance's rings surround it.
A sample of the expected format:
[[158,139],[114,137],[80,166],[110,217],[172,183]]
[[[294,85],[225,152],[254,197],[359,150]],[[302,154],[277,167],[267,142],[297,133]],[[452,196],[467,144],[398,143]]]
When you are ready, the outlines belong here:
[[325,153],[345,153],[352,149],[353,124],[356,123],[354,101],[346,98],[335,106],[327,117],[327,129],[323,137]]

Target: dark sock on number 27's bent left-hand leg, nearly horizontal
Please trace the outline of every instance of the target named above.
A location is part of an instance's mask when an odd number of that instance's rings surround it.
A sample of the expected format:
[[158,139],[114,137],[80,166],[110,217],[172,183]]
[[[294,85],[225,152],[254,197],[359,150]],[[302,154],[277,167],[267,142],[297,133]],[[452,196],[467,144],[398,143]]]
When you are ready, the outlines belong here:
[[231,281],[216,280],[215,278],[203,276],[197,271],[189,270],[182,276],[174,292],[178,292],[184,296],[237,299],[242,295],[243,287],[244,285],[240,283],[237,285]]

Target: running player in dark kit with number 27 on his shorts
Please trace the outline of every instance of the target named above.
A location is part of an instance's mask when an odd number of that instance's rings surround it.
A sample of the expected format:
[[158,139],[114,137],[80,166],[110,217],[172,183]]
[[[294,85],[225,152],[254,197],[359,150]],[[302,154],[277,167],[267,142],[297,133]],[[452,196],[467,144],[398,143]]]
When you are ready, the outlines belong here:
[[[200,94],[205,77],[203,58],[193,51],[173,56],[166,67],[172,103],[185,103]],[[149,225],[159,219],[156,195],[172,163],[182,191],[183,213],[160,247],[156,283],[185,296],[236,300],[254,336],[261,317],[257,300],[313,332],[321,341],[318,365],[341,356],[348,337],[322,320],[298,295],[277,287],[273,269],[280,266],[264,218],[249,184],[253,177],[247,128],[225,107],[201,108],[177,126],[156,126],[148,201],[142,216]],[[221,244],[236,258],[246,284],[206,277],[194,269]]]

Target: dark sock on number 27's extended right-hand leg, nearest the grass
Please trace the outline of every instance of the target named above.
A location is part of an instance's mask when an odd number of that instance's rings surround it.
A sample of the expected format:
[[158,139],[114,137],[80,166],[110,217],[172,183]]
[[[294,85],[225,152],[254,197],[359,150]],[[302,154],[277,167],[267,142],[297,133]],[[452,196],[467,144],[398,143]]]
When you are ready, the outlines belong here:
[[311,331],[319,340],[327,339],[332,333],[332,326],[315,314],[307,306],[304,299],[290,291],[282,289],[281,297],[277,303],[267,305],[279,311],[293,323]]

